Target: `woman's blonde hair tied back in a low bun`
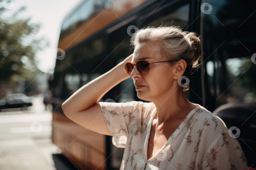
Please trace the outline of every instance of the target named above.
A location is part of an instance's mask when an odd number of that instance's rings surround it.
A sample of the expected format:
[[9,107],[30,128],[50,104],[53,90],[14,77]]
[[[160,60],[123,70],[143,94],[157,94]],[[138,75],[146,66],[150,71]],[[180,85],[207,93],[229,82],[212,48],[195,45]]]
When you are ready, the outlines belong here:
[[[174,65],[181,59],[184,59],[187,67],[183,76],[189,76],[189,73],[191,73],[194,68],[199,67],[198,61],[201,55],[199,37],[197,33],[182,31],[178,26],[162,27],[161,25],[157,28],[149,26],[138,30],[131,37],[130,41],[131,45],[134,45],[134,48],[136,48],[139,43],[157,43],[160,48],[158,53],[161,53],[164,59],[175,60],[175,62],[168,62],[170,65]],[[189,86],[183,87],[183,91],[186,90],[189,90]]]

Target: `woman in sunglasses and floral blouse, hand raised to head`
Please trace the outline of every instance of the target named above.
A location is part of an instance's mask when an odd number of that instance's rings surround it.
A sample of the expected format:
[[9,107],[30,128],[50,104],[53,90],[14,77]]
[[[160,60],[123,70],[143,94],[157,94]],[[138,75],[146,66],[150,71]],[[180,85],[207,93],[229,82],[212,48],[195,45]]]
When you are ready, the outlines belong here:
[[[184,96],[201,54],[197,34],[175,26],[148,27],[131,43],[133,54],[62,104],[65,115],[113,136],[113,144],[125,148],[120,169],[247,169],[224,122]],[[98,102],[130,76],[138,98],[150,103]]]

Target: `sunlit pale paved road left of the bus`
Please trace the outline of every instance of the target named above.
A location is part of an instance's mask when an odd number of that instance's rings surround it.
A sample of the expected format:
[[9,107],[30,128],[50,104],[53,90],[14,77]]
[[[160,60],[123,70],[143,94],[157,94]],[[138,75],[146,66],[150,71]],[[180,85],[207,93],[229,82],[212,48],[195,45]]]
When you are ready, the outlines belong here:
[[[51,109],[51,108],[49,108]],[[5,109],[0,113],[0,169],[56,170],[52,153],[52,113],[35,97],[28,110]]]

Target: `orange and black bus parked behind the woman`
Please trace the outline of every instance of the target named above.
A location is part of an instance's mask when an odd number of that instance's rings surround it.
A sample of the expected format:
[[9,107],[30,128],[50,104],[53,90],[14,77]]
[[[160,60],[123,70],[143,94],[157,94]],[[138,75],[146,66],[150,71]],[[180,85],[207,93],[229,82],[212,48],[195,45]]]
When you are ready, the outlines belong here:
[[[57,169],[120,168],[124,148],[116,148],[112,136],[68,119],[61,104],[132,54],[130,38],[137,30],[160,25],[200,35],[201,66],[188,77],[191,89],[185,96],[221,117],[227,128],[236,128],[232,134],[239,133],[235,138],[247,166],[256,168],[256,38],[250,33],[255,19],[254,6],[242,0],[81,1],[63,20],[50,82],[52,141],[60,150],[53,154]],[[119,83],[100,102],[143,101],[132,83],[131,77]]]

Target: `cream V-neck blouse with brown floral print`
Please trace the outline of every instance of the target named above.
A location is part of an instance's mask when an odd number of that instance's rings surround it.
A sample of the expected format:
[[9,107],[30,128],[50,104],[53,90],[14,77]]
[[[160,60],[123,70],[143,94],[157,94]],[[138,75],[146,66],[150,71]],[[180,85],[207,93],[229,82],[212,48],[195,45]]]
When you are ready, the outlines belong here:
[[120,170],[247,169],[238,140],[229,135],[221,118],[201,105],[190,111],[163,147],[147,160],[154,103],[99,104],[113,144],[125,148]]

